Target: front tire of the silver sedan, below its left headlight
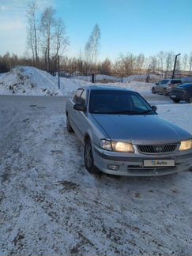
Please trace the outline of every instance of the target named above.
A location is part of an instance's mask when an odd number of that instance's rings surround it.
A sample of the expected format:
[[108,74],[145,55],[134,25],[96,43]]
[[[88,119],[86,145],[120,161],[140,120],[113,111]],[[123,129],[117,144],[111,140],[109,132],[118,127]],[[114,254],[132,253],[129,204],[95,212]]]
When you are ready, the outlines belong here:
[[94,165],[94,158],[92,154],[92,144],[90,139],[87,139],[85,141],[84,162],[85,162],[85,168],[87,169],[88,172],[93,173],[96,171],[96,167]]

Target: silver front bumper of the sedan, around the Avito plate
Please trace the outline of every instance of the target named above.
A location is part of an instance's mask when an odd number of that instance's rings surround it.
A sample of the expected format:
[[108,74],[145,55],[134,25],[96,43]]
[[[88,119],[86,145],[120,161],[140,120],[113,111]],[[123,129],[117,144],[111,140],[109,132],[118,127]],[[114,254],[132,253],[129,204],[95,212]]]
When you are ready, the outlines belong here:
[[[192,150],[167,154],[143,154],[140,152],[111,152],[93,145],[94,164],[100,171],[111,175],[158,176],[188,170],[192,165]],[[175,167],[144,167],[144,160],[175,160]],[[108,165],[118,165],[113,171]]]

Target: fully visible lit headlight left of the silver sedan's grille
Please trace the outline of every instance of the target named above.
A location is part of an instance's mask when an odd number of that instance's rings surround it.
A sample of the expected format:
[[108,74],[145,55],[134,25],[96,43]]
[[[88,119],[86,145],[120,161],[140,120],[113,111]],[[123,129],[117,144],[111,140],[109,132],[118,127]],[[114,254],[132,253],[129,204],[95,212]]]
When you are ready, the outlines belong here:
[[116,152],[134,152],[133,145],[126,142],[101,140],[100,147],[102,149],[116,151]]

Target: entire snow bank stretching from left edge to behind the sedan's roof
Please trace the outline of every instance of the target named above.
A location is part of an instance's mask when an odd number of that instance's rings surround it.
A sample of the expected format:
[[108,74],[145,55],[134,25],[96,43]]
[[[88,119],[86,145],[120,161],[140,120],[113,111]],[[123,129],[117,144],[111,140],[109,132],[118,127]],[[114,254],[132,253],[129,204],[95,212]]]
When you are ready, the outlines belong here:
[[[102,83],[94,85],[118,86],[129,88],[141,93],[142,96],[151,95],[153,84],[130,81],[130,82],[113,82],[114,78],[105,75],[96,76]],[[77,79],[78,78],[78,79]],[[88,78],[88,77],[87,77]],[[97,79],[96,78],[96,79]],[[89,78],[88,78],[89,79]],[[103,83],[104,80],[112,81],[111,83]],[[35,95],[35,96],[71,96],[79,87],[92,85],[90,81],[83,80],[83,77],[66,78],[60,77],[60,88],[58,89],[58,77],[43,70],[38,70],[32,66],[16,66],[0,77],[0,94],[15,95]]]

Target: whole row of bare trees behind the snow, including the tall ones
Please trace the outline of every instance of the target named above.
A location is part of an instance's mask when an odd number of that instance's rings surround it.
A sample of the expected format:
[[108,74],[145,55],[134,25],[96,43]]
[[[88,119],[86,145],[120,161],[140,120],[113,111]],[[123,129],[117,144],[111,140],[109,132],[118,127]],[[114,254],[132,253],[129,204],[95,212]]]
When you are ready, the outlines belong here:
[[[121,54],[115,61],[106,58],[98,61],[100,52],[100,27],[98,24],[85,43],[84,51],[77,57],[67,57],[66,49],[70,46],[70,39],[66,34],[66,26],[61,18],[56,17],[55,9],[51,6],[40,13],[36,1],[32,2],[26,11],[27,47],[28,55],[0,55],[0,72],[8,71],[12,66],[36,66],[48,72],[58,70],[58,56],[60,69],[69,73],[126,73],[126,75],[140,73],[164,73],[169,75],[173,70],[175,53],[160,51],[156,55],[146,57],[144,54]],[[176,72],[191,74],[192,53],[180,55],[176,63]]]

